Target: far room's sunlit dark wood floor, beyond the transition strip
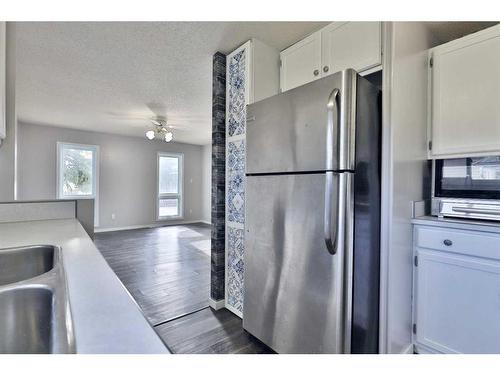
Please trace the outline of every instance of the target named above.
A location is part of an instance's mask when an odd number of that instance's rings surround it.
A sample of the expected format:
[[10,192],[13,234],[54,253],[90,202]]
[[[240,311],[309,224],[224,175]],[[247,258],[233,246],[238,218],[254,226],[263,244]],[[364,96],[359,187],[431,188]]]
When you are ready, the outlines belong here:
[[208,306],[209,225],[97,233],[95,244],[151,324]]

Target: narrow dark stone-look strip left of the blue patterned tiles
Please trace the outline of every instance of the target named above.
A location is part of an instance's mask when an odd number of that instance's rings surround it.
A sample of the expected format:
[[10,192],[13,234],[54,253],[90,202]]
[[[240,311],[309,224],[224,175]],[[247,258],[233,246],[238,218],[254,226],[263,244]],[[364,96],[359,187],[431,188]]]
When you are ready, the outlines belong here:
[[212,72],[212,244],[210,297],[225,298],[226,55],[213,56]]

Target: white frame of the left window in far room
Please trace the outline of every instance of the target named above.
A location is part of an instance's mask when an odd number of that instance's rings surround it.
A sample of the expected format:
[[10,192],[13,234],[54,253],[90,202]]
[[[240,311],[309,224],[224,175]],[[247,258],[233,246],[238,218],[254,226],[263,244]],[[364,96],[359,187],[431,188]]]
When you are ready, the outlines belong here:
[[[63,193],[63,166],[62,162],[62,152],[64,148],[80,149],[92,151],[92,195],[64,195]],[[98,145],[87,145],[81,143],[71,143],[71,142],[57,142],[57,170],[56,170],[56,195],[57,199],[93,199],[94,200],[94,226],[99,226],[99,159],[100,149]]]

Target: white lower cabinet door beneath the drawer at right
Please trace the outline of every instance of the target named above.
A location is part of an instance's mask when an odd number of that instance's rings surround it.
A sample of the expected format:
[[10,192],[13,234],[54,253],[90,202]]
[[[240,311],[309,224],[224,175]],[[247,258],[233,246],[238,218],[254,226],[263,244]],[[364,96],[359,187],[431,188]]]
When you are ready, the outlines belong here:
[[417,254],[417,348],[500,353],[500,261],[421,248]]

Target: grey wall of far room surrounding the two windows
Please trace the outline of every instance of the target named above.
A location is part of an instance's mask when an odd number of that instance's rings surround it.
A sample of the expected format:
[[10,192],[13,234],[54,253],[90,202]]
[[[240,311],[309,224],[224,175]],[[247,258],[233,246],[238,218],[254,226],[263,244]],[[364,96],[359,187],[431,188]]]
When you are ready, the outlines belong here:
[[26,123],[18,125],[19,199],[56,197],[57,142],[100,147],[99,229],[155,222],[158,151],[184,154],[183,220],[203,219],[203,146]]

